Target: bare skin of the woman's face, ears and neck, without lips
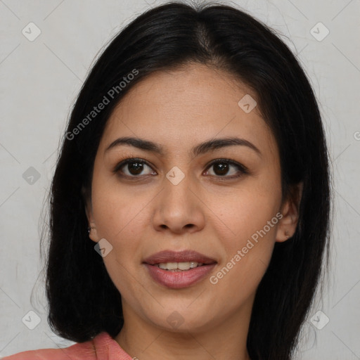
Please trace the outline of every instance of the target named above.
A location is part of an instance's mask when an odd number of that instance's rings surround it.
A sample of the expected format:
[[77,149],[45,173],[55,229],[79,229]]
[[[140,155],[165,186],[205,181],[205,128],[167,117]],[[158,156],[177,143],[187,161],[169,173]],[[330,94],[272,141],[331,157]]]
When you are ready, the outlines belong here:
[[[103,257],[122,295],[124,327],[115,340],[130,356],[149,359],[248,360],[246,338],[252,304],[276,241],[292,236],[298,202],[281,202],[281,169],[271,129],[255,107],[239,106],[245,94],[257,94],[222,70],[188,64],[157,72],[136,84],[117,105],[105,127],[94,163],[91,199],[86,199],[90,238],[113,246]],[[121,145],[105,151],[120,136],[159,143],[164,155]],[[238,136],[254,144],[227,146],[196,157],[193,146],[213,138]],[[140,173],[126,158],[149,162]],[[221,175],[212,160],[231,159],[236,166]],[[166,177],[179,167],[177,185]],[[125,179],[121,176],[133,176]],[[231,176],[240,175],[230,179]],[[136,177],[137,176],[137,177]],[[299,190],[300,189],[300,190]],[[297,195],[301,195],[298,188]],[[243,249],[252,234],[280,212],[283,217],[216,284],[216,275]],[[217,265],[202,281],[169,289],[150,278],[143,259],[161,250],[198,251]],[[168,316],[182,321],[174,328]]]

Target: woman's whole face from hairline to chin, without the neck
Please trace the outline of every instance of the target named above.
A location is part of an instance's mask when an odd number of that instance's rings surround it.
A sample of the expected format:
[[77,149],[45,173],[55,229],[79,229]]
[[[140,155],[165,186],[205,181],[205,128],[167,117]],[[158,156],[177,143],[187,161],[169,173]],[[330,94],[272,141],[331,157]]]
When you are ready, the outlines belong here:
[[[91,240],[112,247],[103,261],[125,321],[200,332],[250,316],[274,243],[296,226],[256,99],[226,72],[193,64],[150,75],[115,108],[86,213]],[[139,141],[115,142],[124,137]]]

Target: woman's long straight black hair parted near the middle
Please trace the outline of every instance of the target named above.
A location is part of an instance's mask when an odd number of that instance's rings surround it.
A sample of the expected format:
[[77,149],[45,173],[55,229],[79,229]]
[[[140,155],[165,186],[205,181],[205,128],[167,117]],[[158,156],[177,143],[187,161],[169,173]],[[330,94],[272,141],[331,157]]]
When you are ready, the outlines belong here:
[[[275,244],[257,289],[247,342],[252,360],[288,360],[328,259],[326,139],[314,92],[288,46],[252,16],[220,4],[170,2],[139,15],[110,41],[84,82],[51,184],[48,321],[55,333],[76,342],[101,331],[113,337],[120,332],[121,295],[87,232],[84,198],[95,155],[110,114],[132,86],[157,70],[193,62],[224,70],[255,91],[278,144],[283,196],[303,182],[296,232]],[[104,96],[103,110],[91,113]]]

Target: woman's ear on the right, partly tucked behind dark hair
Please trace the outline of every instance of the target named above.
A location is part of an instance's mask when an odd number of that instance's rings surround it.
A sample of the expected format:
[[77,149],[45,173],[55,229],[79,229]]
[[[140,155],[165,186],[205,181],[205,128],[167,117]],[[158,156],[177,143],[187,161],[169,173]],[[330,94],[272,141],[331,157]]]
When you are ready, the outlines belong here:
[[278,229],[276,230],[276,241],[282,243],[291,238],[296,230],[299,220],[299,207],[302,198],[303,183],[292,186],[288,198],[281,206],[281,214],[283,217],[278,221]]

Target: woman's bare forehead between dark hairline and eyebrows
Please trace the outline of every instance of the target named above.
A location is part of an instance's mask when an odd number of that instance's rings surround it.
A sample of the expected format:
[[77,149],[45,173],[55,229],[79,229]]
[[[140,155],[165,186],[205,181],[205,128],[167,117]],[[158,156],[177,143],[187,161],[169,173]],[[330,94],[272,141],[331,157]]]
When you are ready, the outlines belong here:
[[[276,144],[259,108],[257,94],[221,70],[192,64],[154,72],[122,98],[110,116],[101,146],[119,136],[137,136],[171,151],[224,136],[240,136],[274,152]],[[246,105],[246,104],[245,104]]]

